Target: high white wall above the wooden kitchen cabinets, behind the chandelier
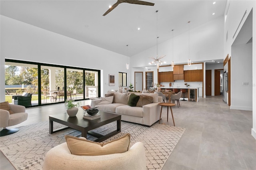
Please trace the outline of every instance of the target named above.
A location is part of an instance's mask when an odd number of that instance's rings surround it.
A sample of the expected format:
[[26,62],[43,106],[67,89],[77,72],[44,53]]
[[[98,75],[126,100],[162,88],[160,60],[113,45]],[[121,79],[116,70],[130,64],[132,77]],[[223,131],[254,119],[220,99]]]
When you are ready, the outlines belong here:
[[[191,21],[193,24],[193,21]],[[205,61],[221,59],[224,56],[224,16],[202,24],[190,30],[190,59],[191,61]],[[161,37],[160,37],[161,38]],[[174,37],[174,59],[171,53],[171,39],[158,44],[158,55],[166,55],[163,61],[166,64],[187,63],[188,61],[188,32]],[[145,67],[156,57],[156,45],[131,57],[132,67]]]

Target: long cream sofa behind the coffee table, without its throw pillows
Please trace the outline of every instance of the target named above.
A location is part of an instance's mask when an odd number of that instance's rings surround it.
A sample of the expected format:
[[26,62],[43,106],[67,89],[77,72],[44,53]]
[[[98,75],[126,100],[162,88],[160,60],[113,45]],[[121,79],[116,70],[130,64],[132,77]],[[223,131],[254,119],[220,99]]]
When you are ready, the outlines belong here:
[[109,91],[108,93],[114,93],[114,103],[99,104],[102,99],[94,99],[92,100],[91,106],[98,107],[97,109],[100,111],[121,115],[122,121],[138,123],[148,127],[159,120],[161,107],[158,103],[162,102],[162,97],[158,97],[158,94],[136,93],[136,95],[151,96],[153,99],[152,103],[143,105],[142,107],[131,107],[128,105],[128,93],[118,93],[113,91]]

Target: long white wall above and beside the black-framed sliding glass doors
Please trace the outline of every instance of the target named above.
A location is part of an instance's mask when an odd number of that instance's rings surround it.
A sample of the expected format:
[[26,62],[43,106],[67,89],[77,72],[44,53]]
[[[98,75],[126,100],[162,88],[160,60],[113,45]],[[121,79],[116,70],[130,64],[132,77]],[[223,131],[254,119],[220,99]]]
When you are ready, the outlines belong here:
[[[127,73],[130,58],[88,43],[1,16],[0,101],[4,101],[4,58],[102,70],[101,95],[118,89],[118,72]],[[111,62],[110,62],[111,61]],[[118,64],[116,64],[118,63]],[[115,74],[115,86],[108,86]],[[128,82],[130,73],[128,73]]]

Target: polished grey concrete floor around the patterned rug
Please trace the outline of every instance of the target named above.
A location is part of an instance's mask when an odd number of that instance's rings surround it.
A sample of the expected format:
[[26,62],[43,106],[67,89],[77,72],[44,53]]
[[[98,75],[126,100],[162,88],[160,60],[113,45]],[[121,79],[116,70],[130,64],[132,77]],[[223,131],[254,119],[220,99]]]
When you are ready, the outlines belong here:
[[[90,100],[82,104],[90,105]],[[222,96],[207,96],[198,102],[180,100],[180,107],[172,108],[176,127],[186,131],[162,170],[256,170],[252,111],[229,109]],[[65,112],[64,104],[26,109],[28,120],[18,126],[48,121],[49,115],[60,111]],[[167,122],[166,107],[160,123],[173,126],[171,115]],[[0,170],[12,169],[1,152]]]

